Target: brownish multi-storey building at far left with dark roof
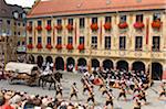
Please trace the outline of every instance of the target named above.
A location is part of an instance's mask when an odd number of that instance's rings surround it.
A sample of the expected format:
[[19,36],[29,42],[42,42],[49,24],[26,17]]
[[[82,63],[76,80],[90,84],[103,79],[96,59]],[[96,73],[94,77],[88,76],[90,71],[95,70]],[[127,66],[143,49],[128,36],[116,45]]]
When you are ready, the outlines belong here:
[[22,7],[7,4],[0,0],[0,59],[3,63],[17,61],[20,53],[25,54],[25,12]]

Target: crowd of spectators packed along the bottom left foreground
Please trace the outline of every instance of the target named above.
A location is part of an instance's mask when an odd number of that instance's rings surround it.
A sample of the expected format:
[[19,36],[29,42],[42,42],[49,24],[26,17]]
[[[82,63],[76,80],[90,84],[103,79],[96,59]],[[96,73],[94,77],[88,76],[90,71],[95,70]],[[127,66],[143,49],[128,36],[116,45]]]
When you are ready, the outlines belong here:
[[87,109],[87,106],[49,96],[2,89],[0,109]]

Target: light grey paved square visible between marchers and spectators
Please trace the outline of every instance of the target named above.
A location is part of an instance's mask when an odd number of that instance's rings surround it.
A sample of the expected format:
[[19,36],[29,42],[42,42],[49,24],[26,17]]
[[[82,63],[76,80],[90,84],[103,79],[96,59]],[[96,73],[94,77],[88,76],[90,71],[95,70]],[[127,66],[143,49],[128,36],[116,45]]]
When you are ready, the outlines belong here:
[[[63,76],[63,80],[62,80],[62,85],[63,85],[63,94],[64,94],[64,99],[68,100],[69,99],[69,94],[70,94],[70,87],[72,85],[72,83],[77,83],[77,88],[80,90],[79,95],[79,102],[86,102],[87,99],[87,95],[85,94],[84,96],[82,95],[82,84],[80,81],[81,75],[75,75],[75,74],[71,74],[71,73],[65,73]],[[158,83],[156,83],[152,88],[155,90],[158,90]],[[0,88],[6,88],[6,89],[13,89],[13,90],[20,90],[20,91],[27,91],[29,94],[35,95],[49,95],[54,97],[54,90],[48,90],[48,87],[45,87],[45,89],[42,89],[41,87],[29,87],[25,85],[9,85],[9,83],[7,80],[1,80],[0,81]],[[166,100],[158,100],[157,97],[158,95],[153,90],[153,89],[148,89],[147,90],[147,99],[149,105],[147,106],[143,106],[143,109],[166,109]],[[95,99],[97,101],[98,106],[104,106],[105,103],[105,97],[103,97],[101,95],[101,91],[98,91],[98,87],[94,88],[95,90]],[[118,90],[117,89],[113,89],[113,94],[115,97],[117,97],[118,95]],[[117,101],[116,99],[114,99],[114,107],[115,109],[133,109],[133,101],[132,101],[132,96],[127,95],[128,101],[123,101],[120,100]],[[76,100],[73,101],[75,102]]]

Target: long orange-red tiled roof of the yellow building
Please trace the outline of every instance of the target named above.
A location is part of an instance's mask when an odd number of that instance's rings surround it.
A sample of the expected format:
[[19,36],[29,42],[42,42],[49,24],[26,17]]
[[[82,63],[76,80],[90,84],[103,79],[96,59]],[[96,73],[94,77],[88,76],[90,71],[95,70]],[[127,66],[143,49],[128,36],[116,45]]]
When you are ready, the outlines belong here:
[[28,18],[166,9],[166,0],[39,0]]

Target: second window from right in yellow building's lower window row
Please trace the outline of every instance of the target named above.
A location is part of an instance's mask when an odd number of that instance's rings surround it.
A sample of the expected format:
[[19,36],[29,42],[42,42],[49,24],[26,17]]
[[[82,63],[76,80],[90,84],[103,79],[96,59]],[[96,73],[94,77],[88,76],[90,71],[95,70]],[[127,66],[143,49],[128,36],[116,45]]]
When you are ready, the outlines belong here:
[[135,37],[135,51],[142,51],[143,47],[143,36]]

